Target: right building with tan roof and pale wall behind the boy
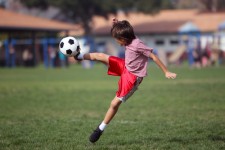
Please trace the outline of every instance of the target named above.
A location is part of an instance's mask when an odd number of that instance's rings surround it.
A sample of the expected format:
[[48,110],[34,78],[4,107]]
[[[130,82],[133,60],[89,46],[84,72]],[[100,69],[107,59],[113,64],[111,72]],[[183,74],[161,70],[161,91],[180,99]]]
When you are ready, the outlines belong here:
[[[166,53],[163,55],[167,56],[171,54],[172,58],[168,58],[168,61],[173,60],[171,63],[178,62],[185,54],[185,57],[189,59],[189,64],[192,65],[194,64],[192,52],[196,48],[200,48],[201,53],[204,53],[215,38],[225,40],[224,35],[218,36],[217,34],[219,24],[225,21],[225,13],[221,12],[199,13],[195,9],[163,10],[154,16],[137,12],[127,15],[120,12],[117,16],[109,16],[109,20],[98,16],[93,18],[95,24],[93,34],[97,43],[101,45],[102,43],[114,43],[118,51],[119,46],[110,35],[113,17],[128,20],[133,25],[137,36],[156,52]],[[221,47],[221,50],[225,51],[225,48]]]

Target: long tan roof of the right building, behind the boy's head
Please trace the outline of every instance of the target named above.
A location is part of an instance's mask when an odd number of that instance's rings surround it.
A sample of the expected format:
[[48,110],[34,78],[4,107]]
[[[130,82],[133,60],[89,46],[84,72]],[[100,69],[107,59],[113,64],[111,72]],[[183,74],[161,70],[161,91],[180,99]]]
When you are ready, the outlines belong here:
[[117,16],[110,15],[108,20],[99,16],[94,17],[94,34],[109,34],[114,17],[118,20],[128,20],[136,34],[178,33],[182,26],[190,22],[200,32],[214,32],[217,31],[219,24],[225,21],[225,13],[199,13],[196,9],[163,10],[155,15],[119,13]]

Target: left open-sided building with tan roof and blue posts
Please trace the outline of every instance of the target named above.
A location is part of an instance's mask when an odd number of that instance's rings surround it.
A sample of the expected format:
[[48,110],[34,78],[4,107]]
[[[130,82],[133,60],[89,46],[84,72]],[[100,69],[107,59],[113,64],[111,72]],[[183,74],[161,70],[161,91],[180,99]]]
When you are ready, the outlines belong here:
[[[48,47],[58,48],[59,35],[78,31],[79,26],[45,18],[15,13],[0,8],[0,64],[15,67],[22,63],[23,51],[29,50],[32,65],[49,66]],[[30,55],[30,56],[31,56]]]

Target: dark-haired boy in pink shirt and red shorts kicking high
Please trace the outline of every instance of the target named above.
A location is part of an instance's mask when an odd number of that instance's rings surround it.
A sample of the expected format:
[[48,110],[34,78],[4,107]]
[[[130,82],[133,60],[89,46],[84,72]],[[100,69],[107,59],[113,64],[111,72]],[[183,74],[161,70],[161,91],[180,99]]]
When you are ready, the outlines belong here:
[[166,66],[153,54],[153,49],[147,47],[138,37],[135,36],[133,27],[126,20],[113,20],[111,35],[116,42],[125,47],[125,60],[104,53],[81,53],[75,56],[77,60],[100,61],[108,66],[108,74],[120,76],[118,90],[105,115],[104,120],[90,135],[90,142],[96,142],[102,135],[106,126],[113,119],[122,102],[137,90],[144,77],[147,76],[148,59],[152,59],[163,71],[168,79],[175,79],[176,74],[170,72]]

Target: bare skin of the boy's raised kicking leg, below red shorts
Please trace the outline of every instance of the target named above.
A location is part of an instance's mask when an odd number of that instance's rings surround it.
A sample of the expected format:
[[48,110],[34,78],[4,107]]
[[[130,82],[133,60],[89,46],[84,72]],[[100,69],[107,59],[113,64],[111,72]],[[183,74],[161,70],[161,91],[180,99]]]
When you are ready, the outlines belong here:
[[83,57],[84,60],[100,61],[106,65],[109,64],[109,55],[104,53],[87,53]]

